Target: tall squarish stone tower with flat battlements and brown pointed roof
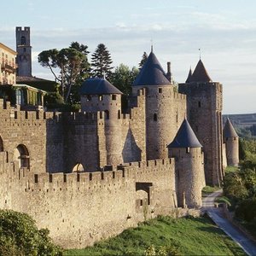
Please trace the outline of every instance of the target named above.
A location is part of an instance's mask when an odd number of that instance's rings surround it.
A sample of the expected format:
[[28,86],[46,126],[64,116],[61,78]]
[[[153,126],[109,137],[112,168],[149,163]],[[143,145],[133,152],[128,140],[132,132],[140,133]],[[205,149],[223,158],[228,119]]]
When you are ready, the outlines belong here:
[[222,160],[222,84],[212,82],[200,60],[194,73],[178,85],[187,95],[189,124],[204,150],[207,184],[220,185],[223,179]]

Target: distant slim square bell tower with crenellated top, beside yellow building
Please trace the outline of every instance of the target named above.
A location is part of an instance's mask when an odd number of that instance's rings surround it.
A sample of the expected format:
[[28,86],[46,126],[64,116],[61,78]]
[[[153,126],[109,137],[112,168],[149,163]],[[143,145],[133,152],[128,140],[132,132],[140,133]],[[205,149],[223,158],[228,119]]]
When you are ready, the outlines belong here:
[[32,46],[30,45],[30,27],[16,26],[16,63],[17,75],[21,77],[32,76]]

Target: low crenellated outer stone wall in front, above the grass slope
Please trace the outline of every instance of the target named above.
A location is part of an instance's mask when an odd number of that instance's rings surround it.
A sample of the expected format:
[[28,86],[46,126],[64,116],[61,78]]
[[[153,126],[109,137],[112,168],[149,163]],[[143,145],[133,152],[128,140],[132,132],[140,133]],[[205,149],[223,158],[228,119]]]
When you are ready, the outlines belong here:
[[63,247],[91,245],[176,205],[173,159],[104,172],[33,173],[1,152],[0,168],[0,207],[28,213]]

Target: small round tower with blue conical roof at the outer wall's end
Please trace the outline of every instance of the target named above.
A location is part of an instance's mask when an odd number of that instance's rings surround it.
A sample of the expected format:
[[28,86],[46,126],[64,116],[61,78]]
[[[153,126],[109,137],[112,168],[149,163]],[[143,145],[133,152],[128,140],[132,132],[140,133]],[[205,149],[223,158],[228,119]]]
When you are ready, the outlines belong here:
[[175,158],[178,207],[201,207],[201,189],[205,186],[202,146],[187,119],[167,147],[169,157]]

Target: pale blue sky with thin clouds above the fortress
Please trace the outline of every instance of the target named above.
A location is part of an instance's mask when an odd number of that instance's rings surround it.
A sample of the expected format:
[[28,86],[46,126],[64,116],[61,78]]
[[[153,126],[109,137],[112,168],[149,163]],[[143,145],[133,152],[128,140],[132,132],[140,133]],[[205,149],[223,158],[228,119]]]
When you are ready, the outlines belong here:
[[201,60],[212,81],[223,84],[223,113],[256,113],[255,0],[23,0],[1,3],[0,42],[15,49],[15,27],[30,26],[32,75],[54,79],[38,64],[45,49],[71,42],[90,54],[105,44],[113,66],[138,66],[154,54],[183,83]]

